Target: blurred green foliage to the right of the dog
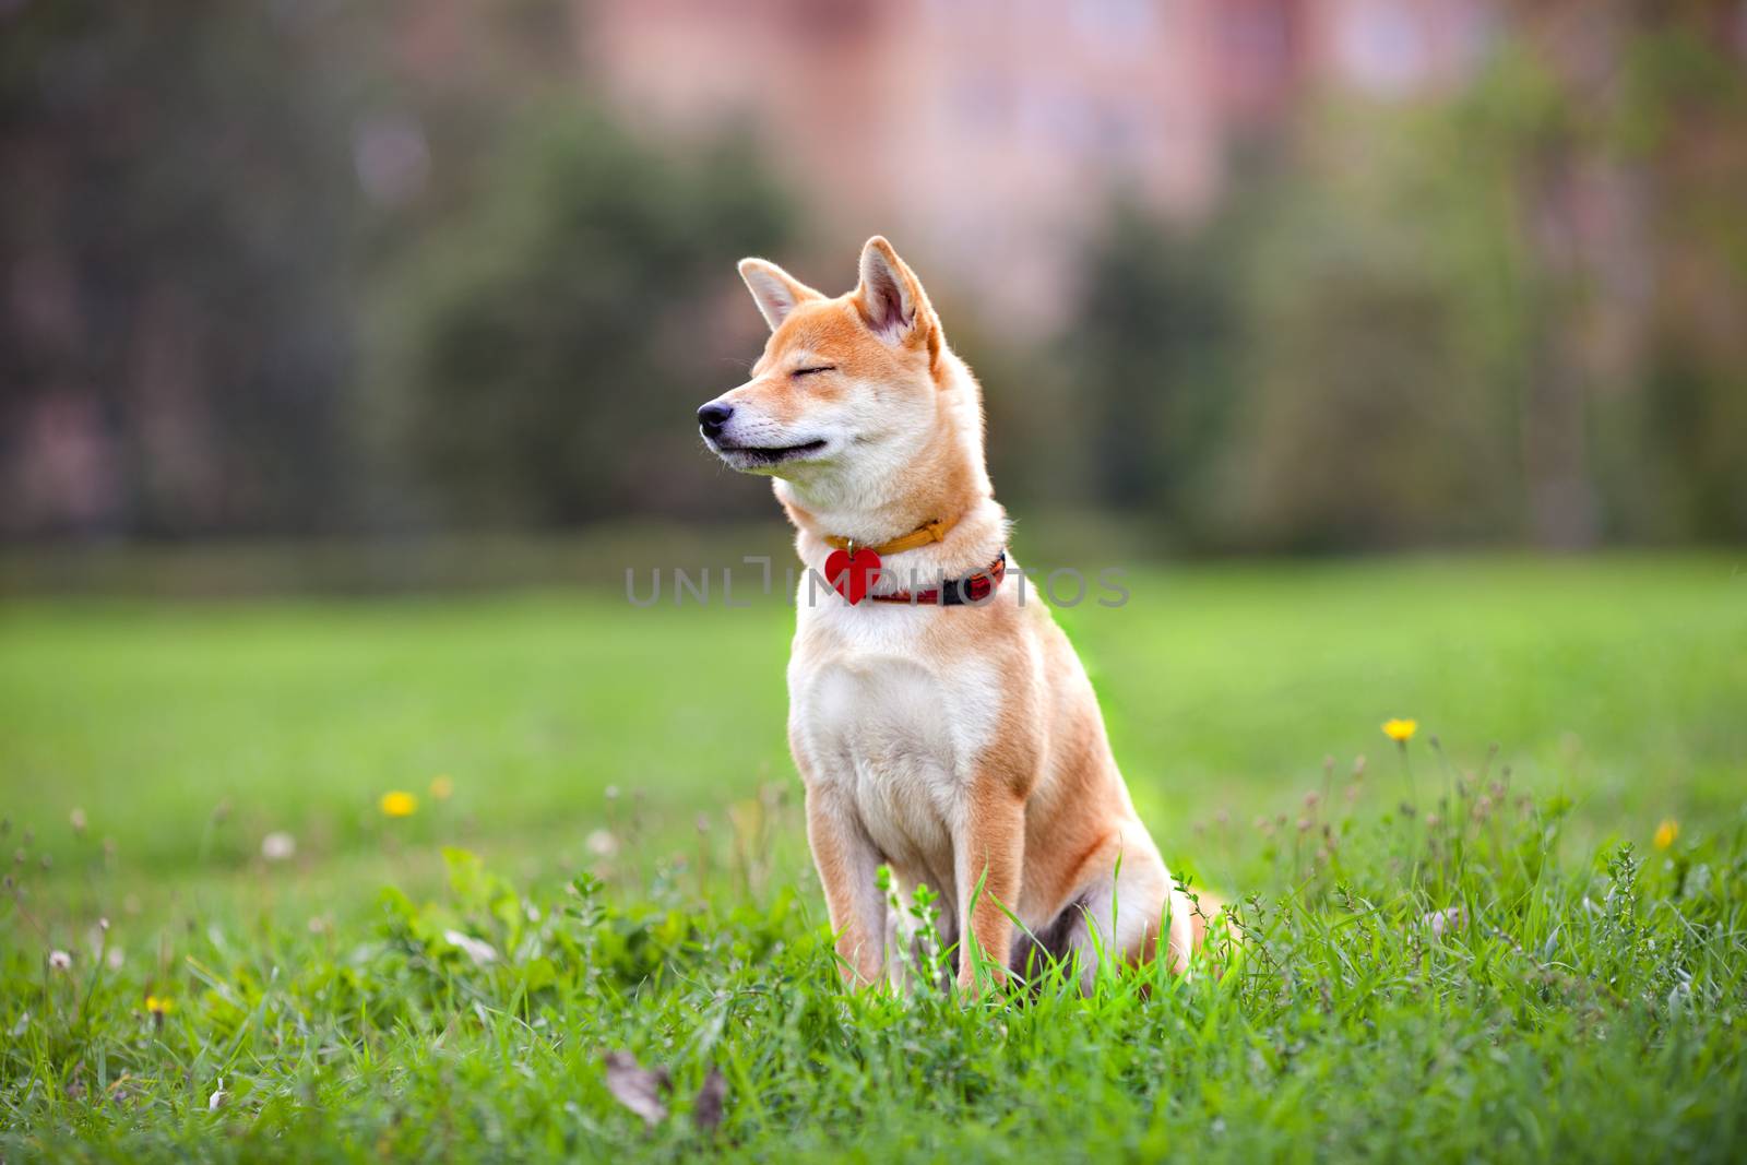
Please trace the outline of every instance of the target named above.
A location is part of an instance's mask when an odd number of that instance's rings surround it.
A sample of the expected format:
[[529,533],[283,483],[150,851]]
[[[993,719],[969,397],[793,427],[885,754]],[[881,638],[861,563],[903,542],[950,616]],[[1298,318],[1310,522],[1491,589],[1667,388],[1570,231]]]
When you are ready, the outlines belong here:
[[1099,498],[1212,548],[1747,536],[1747,80],[1717,5],[1520,17],[1324,100],[1195,234],[1122,211],[1060,363]]

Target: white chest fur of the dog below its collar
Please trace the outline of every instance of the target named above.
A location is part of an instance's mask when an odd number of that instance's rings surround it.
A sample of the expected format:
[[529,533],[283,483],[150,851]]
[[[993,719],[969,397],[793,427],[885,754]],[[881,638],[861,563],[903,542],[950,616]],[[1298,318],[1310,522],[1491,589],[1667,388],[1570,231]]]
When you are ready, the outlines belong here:
[[971,765],[999,713],[992,665],[924,646],[929,620],[954,613],[804,594],[788,669],[809,779],[847,795],[882,858],[936,889],[952,886]]

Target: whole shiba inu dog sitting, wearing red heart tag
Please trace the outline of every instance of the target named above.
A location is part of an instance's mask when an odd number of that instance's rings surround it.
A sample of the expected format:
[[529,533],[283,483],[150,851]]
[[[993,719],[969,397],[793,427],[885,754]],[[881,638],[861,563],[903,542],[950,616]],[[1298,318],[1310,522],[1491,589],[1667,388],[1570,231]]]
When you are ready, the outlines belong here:
[[900,975],[905,912],[880,865],[901,901],[938,893],[964,987],[966,938],[1019,971],[1078,952],[1087,982],[1101,957],[1143,962],[1164,940],[1183,969],[1212,908],[1172,882],[1080,658],[1022,594],[982,389],[921,281],[882,238],[835,299],[762,259],[741,276],[770,339],[697,421],[727,465],[776,479],[809,568],[788,741],[846,978]]

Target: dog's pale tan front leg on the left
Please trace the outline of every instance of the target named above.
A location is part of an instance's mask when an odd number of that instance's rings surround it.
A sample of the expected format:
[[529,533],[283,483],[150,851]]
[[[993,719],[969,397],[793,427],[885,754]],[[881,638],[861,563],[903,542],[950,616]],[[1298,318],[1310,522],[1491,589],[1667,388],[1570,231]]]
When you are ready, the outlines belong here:
[[807,844],[825,887],[844,982],[858,989],[872,987],[886,968],[880,858],[842,789],[807,782]]

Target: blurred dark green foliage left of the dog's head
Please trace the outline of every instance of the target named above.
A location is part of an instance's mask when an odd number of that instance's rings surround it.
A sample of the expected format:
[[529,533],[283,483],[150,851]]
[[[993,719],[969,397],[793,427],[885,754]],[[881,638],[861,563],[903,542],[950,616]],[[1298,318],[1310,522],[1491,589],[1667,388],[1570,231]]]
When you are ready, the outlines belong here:
[[578,100],[571,5],[466,16],[438,75],[414,10],[0,19],[0,533],[720,508],[690,417],[756,351],[734,260],[793,215],[748,140],[680,161]]

